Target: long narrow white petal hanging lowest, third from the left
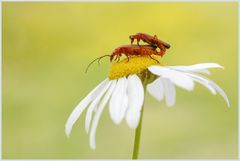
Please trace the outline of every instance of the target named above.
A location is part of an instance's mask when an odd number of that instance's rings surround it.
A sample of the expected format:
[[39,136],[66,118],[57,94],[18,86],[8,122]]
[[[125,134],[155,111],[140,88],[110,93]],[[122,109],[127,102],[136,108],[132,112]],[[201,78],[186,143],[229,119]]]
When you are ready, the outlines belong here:
[[96,135],[96,129],[97,129],[97,126],[98,126],[100,116],[101,116],[102,111],[103,111],[104,107],[106,106],[106,104],[107,104],[115,86],[116,86],[116,80],[113,80],[109,90],[107,91],[107,93],[103,97],[103,99],[102,99],[102,101],[99,105],[99,108],[97,108],[96,114],[94,115],[91,131],[90,131],[90,146],[91,146],[92,149],[96,149],[95,135]]

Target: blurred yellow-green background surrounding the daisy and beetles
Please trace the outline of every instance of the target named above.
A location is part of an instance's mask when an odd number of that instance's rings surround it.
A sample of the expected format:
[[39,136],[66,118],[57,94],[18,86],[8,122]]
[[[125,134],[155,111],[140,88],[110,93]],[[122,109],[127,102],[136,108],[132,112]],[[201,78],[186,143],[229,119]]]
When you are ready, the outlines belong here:
[[175,106],[146,95],[140,158],[237,158],[237,2],[3,2],[3,159],[130,159],[134,130],[115,125],[106,108],[89,147],[85,113],[71,137],[73,108],[107,77],[109,60],[87,64],[129,44],[136,32],[171,44],[164,65],[216,62],[212,80],[229,96],[196,85],[177,88]]

